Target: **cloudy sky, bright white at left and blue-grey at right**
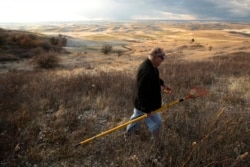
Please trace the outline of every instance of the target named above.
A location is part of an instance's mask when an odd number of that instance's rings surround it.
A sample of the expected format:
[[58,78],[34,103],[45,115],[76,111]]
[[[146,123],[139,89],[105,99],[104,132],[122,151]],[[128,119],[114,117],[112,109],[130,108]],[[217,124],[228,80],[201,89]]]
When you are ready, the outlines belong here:
[[245,20],[250,0],[0,0],[0,23]]

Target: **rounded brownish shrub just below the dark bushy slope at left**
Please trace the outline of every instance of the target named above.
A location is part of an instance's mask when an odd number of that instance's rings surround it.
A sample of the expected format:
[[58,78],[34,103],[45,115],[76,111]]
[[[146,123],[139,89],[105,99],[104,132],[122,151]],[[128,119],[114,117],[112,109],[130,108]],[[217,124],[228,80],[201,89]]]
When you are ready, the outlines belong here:
[[59,65],[59,57],[55,52],[43,52],[33,58],[35,64],[41,68],[54,68]]

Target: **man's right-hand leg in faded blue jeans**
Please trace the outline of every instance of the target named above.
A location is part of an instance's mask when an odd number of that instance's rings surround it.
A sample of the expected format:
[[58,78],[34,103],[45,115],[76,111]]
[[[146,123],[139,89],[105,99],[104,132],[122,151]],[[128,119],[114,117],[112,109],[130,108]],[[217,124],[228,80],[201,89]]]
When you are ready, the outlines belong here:
[[162,122],[162,118],[160,113],[155,113],[153,115],[151,115],[150,117],[147,117],[145,119],[145,122],[148,126],[149,131],[154,134],[156,133],[160,126],[161,126],[161,122]]

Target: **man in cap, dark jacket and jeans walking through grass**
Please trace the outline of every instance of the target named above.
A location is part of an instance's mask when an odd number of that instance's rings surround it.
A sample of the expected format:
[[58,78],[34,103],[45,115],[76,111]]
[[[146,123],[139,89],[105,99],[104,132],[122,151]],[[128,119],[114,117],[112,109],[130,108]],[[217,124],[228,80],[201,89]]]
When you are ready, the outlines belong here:
[[[152,111],[161,107],[161,90],[172,93],[172,90],[164,85],[159,77],[158,66],[164,61],[165,52],[162,48],[155,48],[148,58],[144,60],[136,75],[136,91],[134,99],[134,111],[130,120],[147,114],[145,122],[152,134],[151,140],[159,135],[159,128],[162,122],[160,113],[151,114]],[[125,137],[137,130],[139,122],[129,124]]]

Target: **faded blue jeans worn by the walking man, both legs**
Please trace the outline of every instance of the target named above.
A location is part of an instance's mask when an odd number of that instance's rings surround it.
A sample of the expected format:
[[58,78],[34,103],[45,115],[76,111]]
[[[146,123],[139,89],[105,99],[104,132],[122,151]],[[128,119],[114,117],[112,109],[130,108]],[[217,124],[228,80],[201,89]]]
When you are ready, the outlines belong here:
[[[134,108],[134,112],[133,115],[130,117],[130,120],[140,117],[143,114],[145,113]],[[147,124],[148,129],[152,134],[156,133],[159,130],[161,122],[162,119],[160,113],[155,113],[150,117],[145,118],[145,123]],[[129,124],[126,129],[126,133],[127,134],[133,133],[138,128],[139,124],[140,122],[134,122],[132,124]]]

